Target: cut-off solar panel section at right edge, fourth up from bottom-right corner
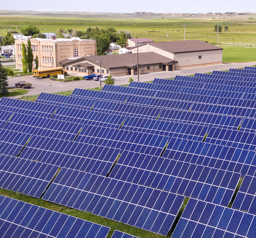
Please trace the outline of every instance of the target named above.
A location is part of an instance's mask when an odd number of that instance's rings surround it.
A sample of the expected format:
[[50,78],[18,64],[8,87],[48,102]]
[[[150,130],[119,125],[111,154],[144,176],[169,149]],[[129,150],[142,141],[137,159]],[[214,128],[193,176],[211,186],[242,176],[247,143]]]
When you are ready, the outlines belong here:
[[205,142],[245,150],[256,150],[256,134],[212,127]]

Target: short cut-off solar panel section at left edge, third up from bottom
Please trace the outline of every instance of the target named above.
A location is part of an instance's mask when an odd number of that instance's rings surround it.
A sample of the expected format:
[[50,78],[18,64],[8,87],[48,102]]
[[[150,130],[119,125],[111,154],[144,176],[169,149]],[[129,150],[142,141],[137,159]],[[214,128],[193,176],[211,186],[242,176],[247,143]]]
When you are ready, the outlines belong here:
[[29,138],[26,133],[0,129],[0,154],[17,156]]

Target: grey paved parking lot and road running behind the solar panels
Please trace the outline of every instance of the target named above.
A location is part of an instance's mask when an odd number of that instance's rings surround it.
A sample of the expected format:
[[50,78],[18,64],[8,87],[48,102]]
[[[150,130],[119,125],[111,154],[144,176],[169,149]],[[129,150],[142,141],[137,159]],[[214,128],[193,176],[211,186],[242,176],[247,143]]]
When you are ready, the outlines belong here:
[[[228,64],[219,64],[212,66],[204,67],[195,67],[190,69],[181,69],[169,72],[156,72],[150,74],[139,75],[139,81],[146,82],[152,81],[154,78],[173,78],[176,75],[193,75],[194,73],[207,73],[212,72],[213,70],[228,70],[230,68],[243,68],[245,66],[256,65],[256,62],[245,62],[245,63],[228,63]],[[119,76],[115,77],[115,85],[125,85],[128,84],[129,78],[132,77],[134,81],[138,80],[138,76]],[[28,89],[29,92],[24,94],[24,96],[37,95],[41,92],[45,93],[57,93],[61,91],[73,90],[75,88],[95,88],[100,86],[99,81],[94,80],[80,80],[80,81],[71,81],[71,82],[60,82],[60,81],[51,81],[48,78],[33,78],[31,75],[20,76],[20,77],[9,77],[9,86],[15,87],[15,83],[18,81],[28,81],[32,83],[32,88]],[[102,82],[104,86],[104,82]],[[20,96],[16,96],[20,97]]]

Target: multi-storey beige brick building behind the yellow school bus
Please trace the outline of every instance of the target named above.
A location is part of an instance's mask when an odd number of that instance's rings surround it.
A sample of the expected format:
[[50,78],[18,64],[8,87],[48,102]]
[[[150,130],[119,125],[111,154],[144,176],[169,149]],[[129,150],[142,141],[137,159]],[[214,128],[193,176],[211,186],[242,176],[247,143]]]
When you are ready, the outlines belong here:
[[[29,37],[22,37],[15,40],[15,58],[16,68],[22,69],[22,43],[28,44]],[[96,41],[95,40],[82,40],[78,37],[71,39],[52,37],[52,39],[30,38],[31,47],[35,59],[38,56],[39,66],[38,69],[48,69],[52,67],[60,67],[60,61],[68,58],[80,58],[83,56],[97,55]]]

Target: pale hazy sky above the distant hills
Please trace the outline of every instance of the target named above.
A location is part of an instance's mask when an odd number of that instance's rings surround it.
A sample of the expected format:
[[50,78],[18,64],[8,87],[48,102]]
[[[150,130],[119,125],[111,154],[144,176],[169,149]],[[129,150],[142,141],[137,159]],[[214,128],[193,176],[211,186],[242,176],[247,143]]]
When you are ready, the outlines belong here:
[[[2,10],[134,13],[256,12],[255,0],[11,0]],[[1,12],[0,12],[1,15]]]

